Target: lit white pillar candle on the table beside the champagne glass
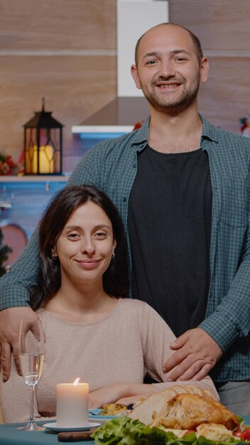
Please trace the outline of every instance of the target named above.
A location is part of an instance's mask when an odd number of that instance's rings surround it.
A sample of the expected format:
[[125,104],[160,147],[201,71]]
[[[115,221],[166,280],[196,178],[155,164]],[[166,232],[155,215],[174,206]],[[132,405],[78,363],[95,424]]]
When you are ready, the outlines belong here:
[[79,380],[57,385],[57,427],[83,427],[89,422],[89,385]]

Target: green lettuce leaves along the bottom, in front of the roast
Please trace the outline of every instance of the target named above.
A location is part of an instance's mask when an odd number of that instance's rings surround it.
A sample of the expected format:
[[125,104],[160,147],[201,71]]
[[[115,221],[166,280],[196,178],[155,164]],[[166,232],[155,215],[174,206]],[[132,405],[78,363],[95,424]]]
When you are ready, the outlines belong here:
[[[195,433],[187,434],[183,439],[178,439],[175,434],[166,432],[161,427],[146,427],[138,420],[129,417],[116,417],[102,424],[92,434],[95,445],[229,445],[240,444],[237,439],[227,442],[215,442]],[[249,442],[244,442],[244,444]]]

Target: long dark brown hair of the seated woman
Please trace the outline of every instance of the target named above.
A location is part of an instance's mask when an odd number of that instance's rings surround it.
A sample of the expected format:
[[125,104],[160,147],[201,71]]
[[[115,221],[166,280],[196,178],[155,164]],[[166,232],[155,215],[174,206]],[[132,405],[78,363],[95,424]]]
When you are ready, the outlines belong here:
[[59,259],[52,250],[72,213],[87,202],[99,205],[112,223],[115,256],[103,276],[104,291],[126,297],[129,291],[129,272],[126,257],[126,238],[118,210],[105,193],[93,186],[66,186],[50,201],[39,225],[40,274],[38,284],[31,289],[30,304],[38,309],[60,289]]

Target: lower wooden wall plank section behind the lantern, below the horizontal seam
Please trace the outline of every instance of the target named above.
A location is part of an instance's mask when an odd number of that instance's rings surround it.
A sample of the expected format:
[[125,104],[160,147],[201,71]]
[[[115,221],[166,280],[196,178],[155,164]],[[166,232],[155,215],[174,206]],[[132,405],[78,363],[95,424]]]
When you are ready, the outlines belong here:
[[[116,58],[107,56],[2,56],[0,151],[16,158],[23,145],[23,124],[45,109],[65,125],[63,154],[75,156],[71,127],[116,97]],[[77,153],[80,156],[80,153]],[[67,160],[65,159],[65,162]],[[68,171],[67,165],[64,168]]]

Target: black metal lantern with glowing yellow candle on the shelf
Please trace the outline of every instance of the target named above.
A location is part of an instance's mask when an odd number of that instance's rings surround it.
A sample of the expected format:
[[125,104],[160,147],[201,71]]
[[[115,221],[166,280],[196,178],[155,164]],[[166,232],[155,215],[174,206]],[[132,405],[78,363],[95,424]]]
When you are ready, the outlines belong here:
[[24,173],[26,175],[62,174],[62,127],[42,110],[23,125],[24,127]]

